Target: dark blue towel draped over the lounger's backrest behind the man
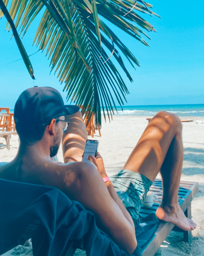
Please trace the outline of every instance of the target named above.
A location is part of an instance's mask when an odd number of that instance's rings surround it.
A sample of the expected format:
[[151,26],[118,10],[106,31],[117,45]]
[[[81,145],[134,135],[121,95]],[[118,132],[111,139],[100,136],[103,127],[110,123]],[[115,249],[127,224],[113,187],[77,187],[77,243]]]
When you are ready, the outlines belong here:
[[0,195],[0,255],[30,237],[34,256],[61,256],[68,241],[82,238],[87,256],[127,255],[93,213],[57,188],[0,179]]

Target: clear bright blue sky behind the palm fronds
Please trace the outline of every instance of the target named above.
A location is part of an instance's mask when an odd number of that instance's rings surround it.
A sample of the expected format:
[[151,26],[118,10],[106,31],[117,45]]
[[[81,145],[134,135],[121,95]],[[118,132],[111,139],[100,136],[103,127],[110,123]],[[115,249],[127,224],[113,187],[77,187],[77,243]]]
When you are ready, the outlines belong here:
[[[149,3],[161,17],[143,16],[157,30],[148,33],[149,47],[113,28],[140,63],[135,70],[124,60],[134,81],[130,83],[121,73],[130,92],[126,105],[203,104],[204,2],[149,0]],[[66,101],[64,85],[54,72],[50,74],[44,52],[30,57],[37,78],[34,83],[23,61],[13,62],[21,55],[11,32],[4,31],[5,24],[5,18],[0,20],[0,106],[13,109],[18,95],[33,84],[56,88]],[[36,24],[22,40],[28,55],[37,51],[32,46]]]

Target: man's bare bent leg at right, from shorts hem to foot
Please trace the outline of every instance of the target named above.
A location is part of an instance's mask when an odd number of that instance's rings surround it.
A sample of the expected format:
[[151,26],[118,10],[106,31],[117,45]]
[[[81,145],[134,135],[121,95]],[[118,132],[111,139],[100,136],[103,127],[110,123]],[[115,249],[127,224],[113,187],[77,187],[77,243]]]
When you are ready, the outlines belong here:
[[123,169],[139,172],[155,180],[161,170],[163,199],[156,215],[184,230],[196,224],[184,215],[178,204],[179,181],[183,163],[182,125],[176,115],[157,113],[143,132]]

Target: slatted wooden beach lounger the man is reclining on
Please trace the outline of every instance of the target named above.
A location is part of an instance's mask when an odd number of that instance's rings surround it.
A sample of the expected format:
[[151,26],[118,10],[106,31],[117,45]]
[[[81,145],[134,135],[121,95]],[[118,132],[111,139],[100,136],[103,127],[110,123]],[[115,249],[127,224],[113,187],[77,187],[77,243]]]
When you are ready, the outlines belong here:
[[[141,207],[140,214],[142,217],[147,216],[150,213],[155,213],[159,204],[162,201],[163,188],[162,181],[160,179],[156,179],[152,186],[149,189],[157,195],[158,200],[154,201],[154,204],[150,208]],[[185,213],[187,218],[191,219],[191,201],[198,193],[198,182],[188,182],[188,181],[180,181],[179,186],[179,205],[183,212]],[[182,232],[184,235],[184,241],[187,243],[191,243],[192,240],[192,232],[184,231],[180,228],[175,227],[170,222],[159,222],[159,225],[151,237],[151,239],[142,247],[142,256],[153,256],[164,239],[169,235],[171,230]],[[76,249],[83,249],[83,241],[81,242],[69,242],[66,246],[65,253],[63,256],[72,256],[74,255]]]

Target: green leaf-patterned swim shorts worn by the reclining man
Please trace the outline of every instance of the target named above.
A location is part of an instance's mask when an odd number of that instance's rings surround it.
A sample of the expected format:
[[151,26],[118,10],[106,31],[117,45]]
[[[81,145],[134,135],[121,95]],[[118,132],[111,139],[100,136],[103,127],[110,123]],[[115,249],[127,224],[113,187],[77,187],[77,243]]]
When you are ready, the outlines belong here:
[[152,185],[152,181],[138,172],[125,169],[109,178],[120,200],[130,213],[134,224],[139,224],[140,207]]

